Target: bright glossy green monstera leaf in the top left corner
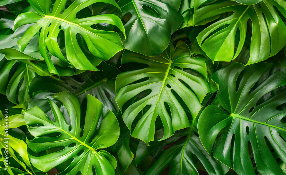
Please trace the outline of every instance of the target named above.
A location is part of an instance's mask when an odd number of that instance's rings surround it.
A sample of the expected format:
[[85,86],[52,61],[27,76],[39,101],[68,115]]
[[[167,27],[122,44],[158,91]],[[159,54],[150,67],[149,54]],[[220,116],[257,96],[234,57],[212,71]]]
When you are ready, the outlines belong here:
[[[52,4],[51,0],[37,1],[29,0],[35,12],[22,13],[15,19],[14,29],[26,24],[36,23],[27,29],[24,36],[17,42],[23,52],[29,41],[38,33],[40,52],[45,59],[49,72],[58,74],[53,65],[48,51],[59,58],[65,64],[72,64],[80,70],[98,70],[97,66],[102,60],[108,60],[118,51],[124,49],[120,36],[113,31],[102,31],[92,28],[97,23],[107,23],[117,26],[125,35],[124,26],[116,15],[105,14],[93,17],[78,19],[76,14],[92,5],[93,3],[110,3],[118,7],[114,0],[76,0],[67,9],[65,9],[67,0],[56,0]],[[118,7],[119,8],[119,7]],[[58,35],[60,31],[64,32],[65,52],[64,56],[59,48]],[[82,51],[78,38],[81,35],[86,45],[94,55],[88,59]]]

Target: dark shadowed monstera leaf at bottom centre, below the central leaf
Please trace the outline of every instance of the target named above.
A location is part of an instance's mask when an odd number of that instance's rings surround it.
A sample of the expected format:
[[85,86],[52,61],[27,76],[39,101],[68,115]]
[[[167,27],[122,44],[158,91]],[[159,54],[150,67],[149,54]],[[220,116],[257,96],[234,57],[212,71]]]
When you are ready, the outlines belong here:
[[[158,156],[159,158],[155,164],[148,170],[148,175],[161,174],[169,165],[170,170],[168,174],[198,175],[196,166],[199,162],[203,165],[208,174],[225,175],[229,167],[208,155],[200,142],[200,138],[194,133],[193,129],[194,126],[186,130],[176,131],[174,136],[164,141],[152,142],[150,146],[147,146],[141,141],[136,152],[136,163],[139,164],[145,156],[154,156],[156,158],[158,154],[154,153],[163,152]],[[180,141],[179,139],[182,137],[186,137],[186,139]],[[164,146],[167,147],[167,145],[174,142],[175,144],[172,145],[172,147],[164,150]],[[192,154],[194,154],[196,158],[192,156]]]

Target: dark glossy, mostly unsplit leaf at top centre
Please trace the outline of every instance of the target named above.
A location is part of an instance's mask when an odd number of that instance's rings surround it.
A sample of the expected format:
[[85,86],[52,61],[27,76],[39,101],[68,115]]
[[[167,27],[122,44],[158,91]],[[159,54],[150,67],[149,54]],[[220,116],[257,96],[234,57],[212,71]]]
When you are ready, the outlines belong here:
[[[167,3],[170,2],[170,5]],[[147,56],[161,54],[170,42],[170,36],[181,25],[183,17],[174,7],[180,0],[120,0],[116,7],[103,13],[113,13],[120,18],[131,13],[131,18],[124,20],[126,40],[123,42],[128,50]],[[172,5],[172,6],[171,6]]]

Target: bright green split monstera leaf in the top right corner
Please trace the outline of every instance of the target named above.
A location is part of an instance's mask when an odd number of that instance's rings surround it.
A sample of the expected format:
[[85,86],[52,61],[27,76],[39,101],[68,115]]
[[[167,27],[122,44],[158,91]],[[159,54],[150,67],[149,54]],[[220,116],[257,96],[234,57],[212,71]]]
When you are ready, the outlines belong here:
[[[197,36],[204,52],[212,61],[231,61],[239,55],[246,36],[250,35],[250,58],[247,64],[277,54],[286,44],[286,26],[279,16],[282,14],[286,17],[286,1],[263,0],[256,5],[237,2],[226,0],[205,5],[211,1],[194,1],[194,24],[222,13],[233,13],[211,24]],[[248,1],[248,4],[255,2],[258,1]],[[252,31],[248,32],[247,27]]]

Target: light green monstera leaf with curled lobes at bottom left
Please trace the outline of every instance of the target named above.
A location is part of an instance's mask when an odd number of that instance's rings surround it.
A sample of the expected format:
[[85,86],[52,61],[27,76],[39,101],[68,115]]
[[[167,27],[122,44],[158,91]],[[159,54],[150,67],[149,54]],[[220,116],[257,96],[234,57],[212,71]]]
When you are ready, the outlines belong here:
[[[101,120],[103,104],[91,95],[87,95],[85,116],[81,116],[80,103],[72,93],[64,91],[54,97],[65,105],[71,125],[67,124],[55,102],[48,99],[53,115],[47,116],[39,107],[24,111],[28,130],[35,136],[33,140],[27,139],[27,144],[34,152],[64,149],[38,157],[29,155],[33,165],[47,172],[72,159],[59,175],[75,175],[79,172],[92,175],[93,170],[96,174],[115,174],[116,159],[101,150],[113,145],[119,137],[120,129],[115,115],[109,111]],[[82,117],[85,117],[84,120],[81,120]]]

